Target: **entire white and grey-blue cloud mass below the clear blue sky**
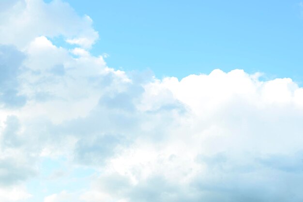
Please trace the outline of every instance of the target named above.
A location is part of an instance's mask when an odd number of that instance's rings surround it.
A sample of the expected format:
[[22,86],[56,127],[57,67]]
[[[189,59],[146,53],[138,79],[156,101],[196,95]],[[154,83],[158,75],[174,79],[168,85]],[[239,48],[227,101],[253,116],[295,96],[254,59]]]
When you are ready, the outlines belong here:
[[91,25],[61,0],[0,2],[1,202],[303,200],[302,87],[108,68]]

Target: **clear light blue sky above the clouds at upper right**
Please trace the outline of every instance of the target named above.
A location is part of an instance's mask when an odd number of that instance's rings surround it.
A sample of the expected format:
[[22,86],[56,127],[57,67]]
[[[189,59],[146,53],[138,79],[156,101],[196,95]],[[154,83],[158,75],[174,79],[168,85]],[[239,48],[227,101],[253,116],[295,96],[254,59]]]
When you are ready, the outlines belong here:
[[111,67],[182,78],[220,68],[303,79],[300,1],[68,1],[94,19]]

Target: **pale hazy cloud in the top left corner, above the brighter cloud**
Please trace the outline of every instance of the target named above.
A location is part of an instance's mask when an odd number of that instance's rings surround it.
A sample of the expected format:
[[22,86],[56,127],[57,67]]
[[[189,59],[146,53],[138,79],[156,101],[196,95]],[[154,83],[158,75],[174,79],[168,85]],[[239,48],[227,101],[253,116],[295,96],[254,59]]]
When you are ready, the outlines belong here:
[[[15,0],[5,3],[0,13],[0,43],[24,48],[39,36],[60,37],[68,42],[90,48],[98,39],[92,20],[79,17],[65,2],[53,0]],[[22,37],[20,37],[22,33]]]

